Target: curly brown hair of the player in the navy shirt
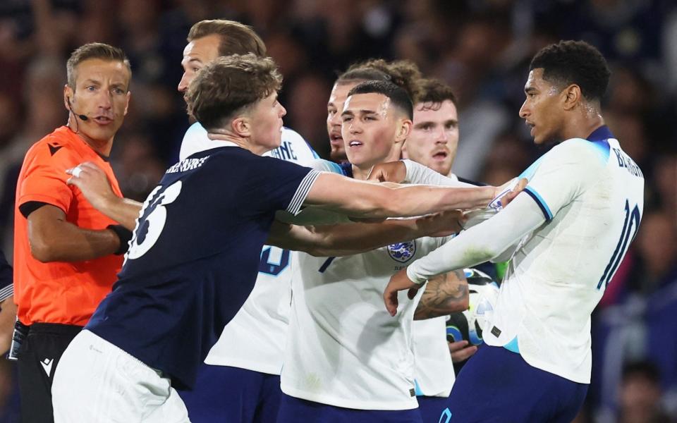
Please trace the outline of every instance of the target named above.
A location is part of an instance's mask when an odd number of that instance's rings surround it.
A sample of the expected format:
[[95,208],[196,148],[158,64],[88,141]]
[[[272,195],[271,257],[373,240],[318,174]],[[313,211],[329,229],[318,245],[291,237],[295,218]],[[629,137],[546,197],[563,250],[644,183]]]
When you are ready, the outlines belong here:
[[282,75],[269,57],[233,54],[200,69],[188,86],[188,113],[207,130],[224,128],[236,114],[278,91]]

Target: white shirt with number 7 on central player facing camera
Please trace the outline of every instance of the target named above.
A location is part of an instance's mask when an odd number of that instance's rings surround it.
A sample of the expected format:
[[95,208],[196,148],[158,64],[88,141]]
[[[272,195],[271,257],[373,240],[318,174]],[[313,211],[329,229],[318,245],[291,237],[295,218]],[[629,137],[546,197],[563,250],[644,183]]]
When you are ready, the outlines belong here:
[[416,408],[411,323],[422,291],[414,300],[401,293],[396,317],[382,295],[396,271],[448,239],[420,238],[347,257],[295,255],[282,391],[360,410]]

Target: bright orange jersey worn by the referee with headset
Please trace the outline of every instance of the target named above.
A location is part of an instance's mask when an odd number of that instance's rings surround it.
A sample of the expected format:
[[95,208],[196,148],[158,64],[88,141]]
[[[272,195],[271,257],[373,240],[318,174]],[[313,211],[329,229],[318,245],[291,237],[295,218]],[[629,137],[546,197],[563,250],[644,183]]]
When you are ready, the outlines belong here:
[[44,202],[66,213],[66,221],[85,229],[116,224],[85,200],[80,189],[66,185],[66,169],[92,161],[122,197],[110,164],[67,126],[39,140],[26,154],[16,185],[14,207],[14,301],[23,324],[60,323],[84,326],[99,302],[111,292],[123,258],[107,255],[85,262],[41,263],[30,253],[28,219],[21,204]]

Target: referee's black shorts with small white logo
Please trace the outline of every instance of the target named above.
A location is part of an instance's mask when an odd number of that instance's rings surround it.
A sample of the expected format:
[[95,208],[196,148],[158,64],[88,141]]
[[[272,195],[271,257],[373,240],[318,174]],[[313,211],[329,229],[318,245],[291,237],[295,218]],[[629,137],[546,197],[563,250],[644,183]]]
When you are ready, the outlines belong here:
[[83,326],[35,323],[18,351],[21,422],[52,423],[51,382],[63,351]]

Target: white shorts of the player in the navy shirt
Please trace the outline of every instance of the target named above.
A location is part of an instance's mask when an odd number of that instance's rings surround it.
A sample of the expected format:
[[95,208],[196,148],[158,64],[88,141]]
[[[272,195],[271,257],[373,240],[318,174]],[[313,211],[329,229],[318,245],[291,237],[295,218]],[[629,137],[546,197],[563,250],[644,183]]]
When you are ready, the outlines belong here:
[[55,423],[190,423],[169,378],[90,331],[61,356],[51,400]]

